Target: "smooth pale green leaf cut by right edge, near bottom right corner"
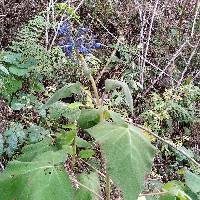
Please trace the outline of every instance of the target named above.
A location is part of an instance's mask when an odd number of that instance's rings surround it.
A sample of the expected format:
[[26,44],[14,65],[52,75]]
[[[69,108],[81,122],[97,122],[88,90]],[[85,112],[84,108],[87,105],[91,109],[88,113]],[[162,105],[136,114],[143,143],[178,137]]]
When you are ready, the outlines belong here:
[[200,176],[187,171],[185,173],[185,182],[186,185],[192,190],[192,192],[200,193]]

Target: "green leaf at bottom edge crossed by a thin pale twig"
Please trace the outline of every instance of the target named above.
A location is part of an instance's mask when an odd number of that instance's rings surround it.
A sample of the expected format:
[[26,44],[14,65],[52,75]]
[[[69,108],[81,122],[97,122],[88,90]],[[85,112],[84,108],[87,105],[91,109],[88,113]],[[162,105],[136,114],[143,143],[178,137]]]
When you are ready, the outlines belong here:
[[78,182],[89,188],[90,191],[80,186],[75,193],[75,200],[99,200],[95,195],[100,195],[100,182],[96,173],[80,175],[78,176]]

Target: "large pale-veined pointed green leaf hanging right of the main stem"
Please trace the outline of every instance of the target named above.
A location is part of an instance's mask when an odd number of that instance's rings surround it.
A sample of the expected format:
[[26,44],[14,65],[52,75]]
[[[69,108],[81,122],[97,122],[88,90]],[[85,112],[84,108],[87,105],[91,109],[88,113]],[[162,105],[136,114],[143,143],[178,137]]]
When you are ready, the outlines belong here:
[[101,144],[108,174],[122,189],[124,198],[136,200],[151,169],[154,147],[139,128],[128,124],[103,123],[87,131]]

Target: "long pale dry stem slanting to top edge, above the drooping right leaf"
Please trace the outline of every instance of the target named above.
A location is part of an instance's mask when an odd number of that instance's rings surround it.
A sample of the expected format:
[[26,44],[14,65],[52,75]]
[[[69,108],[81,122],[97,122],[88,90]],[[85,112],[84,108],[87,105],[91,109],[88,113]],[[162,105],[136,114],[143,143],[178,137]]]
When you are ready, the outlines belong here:
[[154,22],[154,18],[156,15],[156,10],[158,7],[158,2],[159,0],[156,0],[154,9],[153,9],[153,14],[152,14],[152,18],[151,18],[151,23],[150,23],[150,27],[149,27],[149,34],[148,34],[148,38],[147,38],[147,44],[146,44],[146,49],[145,49],[145,53],[144,53],[144,61],[143,61],[143,65],[142,65],[142,71],[141,71],[141,85],[143,87],[144,85],[144,71],[145,71],[145,60],[147,58],[147,53],[148,53],[148,49],[149,49],[149,42],[151,40],[151,31],[152,31],[152,27],[153,27],[153,22]]

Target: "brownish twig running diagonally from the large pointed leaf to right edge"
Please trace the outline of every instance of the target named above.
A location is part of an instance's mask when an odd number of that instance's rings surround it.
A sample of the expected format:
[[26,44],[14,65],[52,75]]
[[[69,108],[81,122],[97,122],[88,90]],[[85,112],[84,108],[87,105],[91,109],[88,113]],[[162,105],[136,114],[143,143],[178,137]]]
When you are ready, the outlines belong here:
[[183,150],[179,149],[174,143],[170,143],[168,141],[166,141],[165,139],[163,139],[162,137],[158,136],[157,134],[155,134],[154,132],[148,130],[147,128],[144,128],[141,125],[138,125],[136,123],[133,123],[135,126],[137,126],[138,128],[141,128],[142,130],[148,132],[149,134],[153,135],[155,138],[157,138],[158,140],[160,140],[161,142],[171,146],[173,149],[177,150],[179,153],[183,154],[185,157],[188,158],[188,160],[190,160],[191,162],[193,162],[195,165],[197,165],[200,168],[200,163],[198,163],[196,160],[194,160],[193,158],[191,158],[187,153],[185,153]]

